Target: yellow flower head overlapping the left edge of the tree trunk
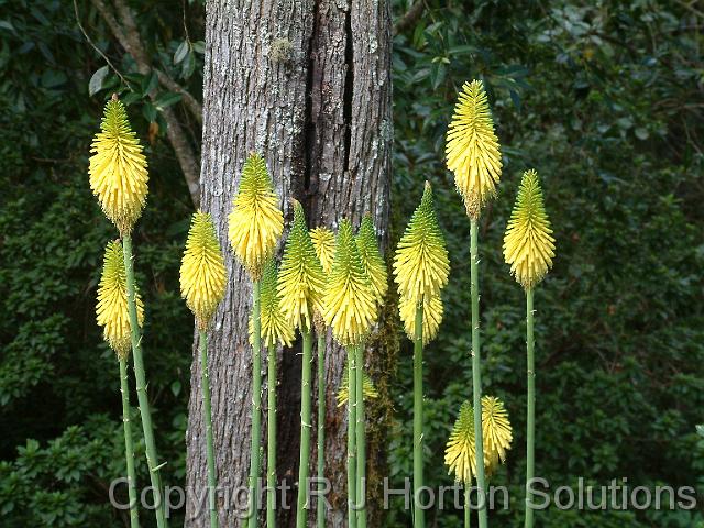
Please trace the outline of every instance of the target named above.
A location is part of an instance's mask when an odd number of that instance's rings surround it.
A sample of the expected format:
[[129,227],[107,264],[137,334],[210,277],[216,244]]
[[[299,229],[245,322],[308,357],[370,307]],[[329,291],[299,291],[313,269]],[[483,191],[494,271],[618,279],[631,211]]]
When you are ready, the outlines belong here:
[[224,262],[212,218],[195,212],[180,263],[180,295],[196,316],[199,330],[208,328],[224,289]]

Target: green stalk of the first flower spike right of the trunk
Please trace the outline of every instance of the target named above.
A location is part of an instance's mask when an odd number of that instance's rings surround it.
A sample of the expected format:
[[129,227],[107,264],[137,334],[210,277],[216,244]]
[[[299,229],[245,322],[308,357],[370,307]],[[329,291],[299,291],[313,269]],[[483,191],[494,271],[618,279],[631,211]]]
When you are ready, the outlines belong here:
[[426,512],[420,508],[422,476],[422,304],[416,307],[416,334],[414,339],[414,527],[425,528]]

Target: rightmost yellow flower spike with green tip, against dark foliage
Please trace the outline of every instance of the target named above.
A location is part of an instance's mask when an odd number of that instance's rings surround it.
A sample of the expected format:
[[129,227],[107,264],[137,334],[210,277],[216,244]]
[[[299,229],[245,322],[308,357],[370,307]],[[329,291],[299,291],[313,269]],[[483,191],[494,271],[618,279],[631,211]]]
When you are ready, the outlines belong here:
[[538,284],[552,267],[554,239],[542,204],[538,173],[526,170],[504,235],[504,258],[524,288]]

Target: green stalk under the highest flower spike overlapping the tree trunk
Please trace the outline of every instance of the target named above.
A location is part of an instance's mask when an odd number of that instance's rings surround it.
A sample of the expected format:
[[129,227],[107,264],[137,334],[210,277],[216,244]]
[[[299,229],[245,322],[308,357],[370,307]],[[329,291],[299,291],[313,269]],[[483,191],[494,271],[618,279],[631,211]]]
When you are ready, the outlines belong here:
[[252,297],[254,299],[254,324],[252,345],[252,444],[250,451],[250,528],[258,525],[258,482],[262,471],[260,442],[262,441],[262,304],[261,283],[252,283]]

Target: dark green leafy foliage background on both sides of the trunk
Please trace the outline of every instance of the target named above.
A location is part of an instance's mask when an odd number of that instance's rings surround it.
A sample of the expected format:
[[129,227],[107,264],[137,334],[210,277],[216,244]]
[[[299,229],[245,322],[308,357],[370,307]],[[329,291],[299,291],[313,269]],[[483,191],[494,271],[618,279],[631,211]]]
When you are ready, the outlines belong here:
[[[647,0],[426,4],[395,37],[394,196],[409,199],[394,201],[393,232],[400,234],[422,182],[431,180],[452,274],[441,333],[426,353],[428,484],[451,484],[443,447],[471,392],[469,221],[444,169],[443,135],[458,88],[479,77],[505,161],[498,197],[481,223],[483,374],[515,429],[509,460],[493,481],[509,486],[512,508],[495,513],[493,524],[517,526],[521,512],[524,298],[501,244],[520,174],[531,167],[541,175],[558,245],[536,296],[538,474],[553,490],[580,476],[596,485],[627,476],[632,486],[698,486],[701,502],[703,13]],[[158,105],[146,99],[153,80],[120,58],[88,4],[79,8],[133,85],[130,113],[147,138],[150,121],[161,120]],[[394,8],[407,11],[405,1]],[[202,7],[188,9],[193,42],[183,12],[160,2],[145,2],[139,22],[150,52],[196,92]],[[88,95],[105,63],[66,3],[0,0],[0,525],[120,526],[124,519],[106,503],[107,486],[123,473],[118,364],[94,315],[102,248],[114,232],[86,175],[102,102],[119,79],[107,73]],[[172,94],[160,97],[180,106]],[[166,481],[177,483],[193,338],[177,271],[191,205],[160,129],[148,144],[152,184],[135,233],[136,270],[160,450],[169,461]],[[403,342],[389,457],[398,486],[411,469],[410,369]],[[144,464],[140,471],[145,475]],[[409,526],[402,504],[393,505],[385,525]],[[544,527],[704,522],[701,510],[550,509],[537,519]],[[430,520],[461,526],[453,512],[433,512]]]

